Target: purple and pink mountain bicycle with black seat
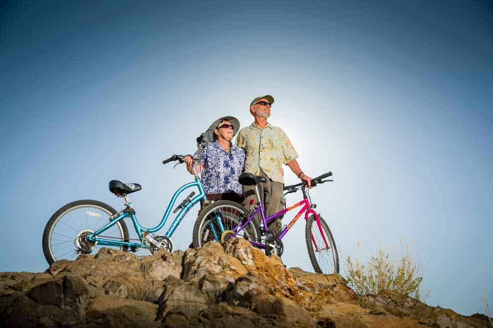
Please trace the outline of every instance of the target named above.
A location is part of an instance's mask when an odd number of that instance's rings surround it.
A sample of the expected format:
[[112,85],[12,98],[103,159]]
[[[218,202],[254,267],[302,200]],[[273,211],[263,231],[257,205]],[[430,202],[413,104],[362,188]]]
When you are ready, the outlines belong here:
[[[332,172],[323,174],[312,180],[312,186],[322,184],[333,180],[324,180],[332,176]],[[201,247],[205,242],[210,240],[224,242],[227,239],[235,238],[242,232],[243,237],[255,247],[265,250],[266,255],[275,253],[279,256],[283,252],[282,238],[291,229],[294,223],[305,213],[305,239],[308,248],[308,254],[313,268],[318,273],[339,273],[339,256],[334,237],[325,220],[314,210],[317,205],[313,204],[310,198],[310,191],[307,190],[307,183],[301,182],[284,187],[287,191],[284,195],[302,190],[303,200],[287,207],[269,217],[265,217],[262,202],[260,202],[260,193],[258,183],[266,182],[263,177],[255,177],[250,173],[244,173],[239,177],[239,182],[243,185],[253,185],[255,194],[259,200],[255,205],[253,201],[250,203],[250,208],[246,210],[240,204],[228,201],[218,201],[206,207],[195,221],[193,229],[193,246]],[[272,235],[268,231],[268,222],[276,219],[282,214],[302,206],[302,209],[294,216],[294,218],[281,232],[277,235]],[[260,214],[262,219],[262,229],[260,230],[255,216]],[[227,223],[227,224],[225,224]],[[264,236],[262,242],[259,236]]]

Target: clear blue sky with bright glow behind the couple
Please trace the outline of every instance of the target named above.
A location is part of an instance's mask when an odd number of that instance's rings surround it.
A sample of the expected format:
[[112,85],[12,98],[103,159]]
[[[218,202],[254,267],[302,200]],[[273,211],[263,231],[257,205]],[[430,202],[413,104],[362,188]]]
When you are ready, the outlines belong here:
[[[161,161],[193,152],[221,116],[250,124],[248,104],[268,93],[270,122],[303,171],[334,173],[312,197],[342,267],[414,240],[427,302],[483,312],[484,292],[493,298],[491,1],[69,2],[0,4],[0,271],[47,268],[42,232],[63,205],[120,209],[111,179],[142,184],[131,199],[156,225],[191,180]],[[176,248],[190,243],[195,210]],[[303,221],[283,240],[285,264],[313,270]]]

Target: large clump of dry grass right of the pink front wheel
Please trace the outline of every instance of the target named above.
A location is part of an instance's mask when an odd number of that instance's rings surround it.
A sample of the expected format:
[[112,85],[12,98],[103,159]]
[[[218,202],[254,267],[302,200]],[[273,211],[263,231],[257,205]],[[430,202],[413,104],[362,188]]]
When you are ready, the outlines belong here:
[[357,259],[353,262],[348,256],[346,270],[348,284],[358,296],[376,295],[385,289],[424,301],[430,292],[428,290],[424,297],[420,294],[423,276],[420,275],[419,263],[410,255],[409,246],[397,259],[381,247],[367,263],[360,263]]

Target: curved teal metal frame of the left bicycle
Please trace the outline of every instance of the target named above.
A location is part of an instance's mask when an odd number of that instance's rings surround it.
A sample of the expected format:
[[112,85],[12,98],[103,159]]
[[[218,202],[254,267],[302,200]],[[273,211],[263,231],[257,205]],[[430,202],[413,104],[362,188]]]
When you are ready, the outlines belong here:
[[[166,232],[166,237],[171,238],[173,233],[175,232],[176,228],[180,224],[181,220],[183,217],[188,213],[188,211],[198,202],[201,200],[206,200],[206,193],[204,191],[204,187],[202,186],[202,182],[198,176],[195,176],[195,181],[189,182],[187,184],[182,185],[178,190],[176,190],[175,194],[171,198],[170,203],[168,204],[168,208],[166,209],[166,212],[164,213],[161,222],[154,228],[144,228],[142,227],[135,215],[135,210],[132,207],[132,203],[126,202],[125,203],[125,209],[117,213],[118,215],[115,218],[110,218],[110,221],[106,223],[103,227],[101,227],[99,230],[93,232],[92,234],[88,235],[86,238],[90,241],[98,242],[99,245],[104,245],[104,246],[122,246],[122,245],[127,245],[129,247],[142,247],[144,244],[143,240],[143,233],[154,233],[166,224],[166,221],[168,220],[168,217],[170,216],[171,210],[173,206],[176,203],[176,199],[178,196],[186,189],[191,188],[196,186],[199,189],[199,194],[195,197],[193,197],[191,200],[189,200],[183,208],[178,212],[178,215],[176,215],[175,220],[173,220],[170,228]],[[130,241],[122,241],[122,240],[110,240],[110,239],[105,239],[105,238],[100,238],[98,235],[101,235],[104,233],[106,230],[108,230],[111,226],[115,225],[118,221],[130,217],[132,219],[132,222],[134,224],[135,231],[137,233],[137,236],[139,236],[139,240],[141,241],[140,243],[135,243],[135,242],[130,242]]]

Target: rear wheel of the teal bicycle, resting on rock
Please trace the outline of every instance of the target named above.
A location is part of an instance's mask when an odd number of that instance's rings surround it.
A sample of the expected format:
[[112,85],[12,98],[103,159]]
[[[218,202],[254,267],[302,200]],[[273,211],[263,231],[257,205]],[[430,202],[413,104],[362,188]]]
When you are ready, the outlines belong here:
[[[43,252],[48,264],[62,259],[74,260],[81,254],[81,249],[83,254],[95,254],[101,247],[127,251],[128,246],[100,246],[83,239],[84,235],[105,225],[114,213],[116,209],[93,200],[75,201],[57,210],[43,233]],[[112,240],[129,240],[127,225],[123,220],[116,222],[103,234]]]

